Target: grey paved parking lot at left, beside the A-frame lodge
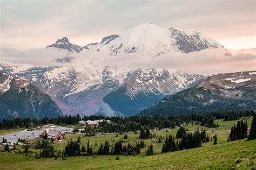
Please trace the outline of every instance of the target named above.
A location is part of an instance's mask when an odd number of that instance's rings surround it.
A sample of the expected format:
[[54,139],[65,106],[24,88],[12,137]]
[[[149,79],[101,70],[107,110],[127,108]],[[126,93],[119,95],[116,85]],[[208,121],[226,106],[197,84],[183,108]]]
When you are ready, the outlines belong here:
[[[56,126],[56,127],[52,127],[60,132],[66,133],[66,132],[72,132],[73,128],[66,128],[63,126]],[[39,130],[32,130],[32,131],[27,131],[27,130],[23,130],[23,131],[18,131],[15,133],[9,133],[9,134],[4,134],[2,136],[0,136],[0,141],[3,141],[3,138],[7,139],[7,142],[10,143],[16,143],[18,141],[18,139],[35,139],[38,138],[39,134],[41,134],[44,131],[45,128],[39,129]]]

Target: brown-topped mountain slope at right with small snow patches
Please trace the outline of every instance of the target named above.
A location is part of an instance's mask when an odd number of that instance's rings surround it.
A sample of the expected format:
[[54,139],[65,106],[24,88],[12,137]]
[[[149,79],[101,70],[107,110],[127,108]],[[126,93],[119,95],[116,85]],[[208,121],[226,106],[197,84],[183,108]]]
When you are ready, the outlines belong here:
[[256,72],[219,74],[165,97],[138,115],[173,115],[256,109]]

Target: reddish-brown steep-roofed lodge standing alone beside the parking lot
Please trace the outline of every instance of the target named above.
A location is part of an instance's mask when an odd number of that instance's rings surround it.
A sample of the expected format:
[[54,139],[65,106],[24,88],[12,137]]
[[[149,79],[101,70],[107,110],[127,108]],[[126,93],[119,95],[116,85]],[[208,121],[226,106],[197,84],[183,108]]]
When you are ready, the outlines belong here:
[[57,131],[54,128],[44,129],[43,133],[39,134],[39,137],[55,142],[64,139],[62,132]]

